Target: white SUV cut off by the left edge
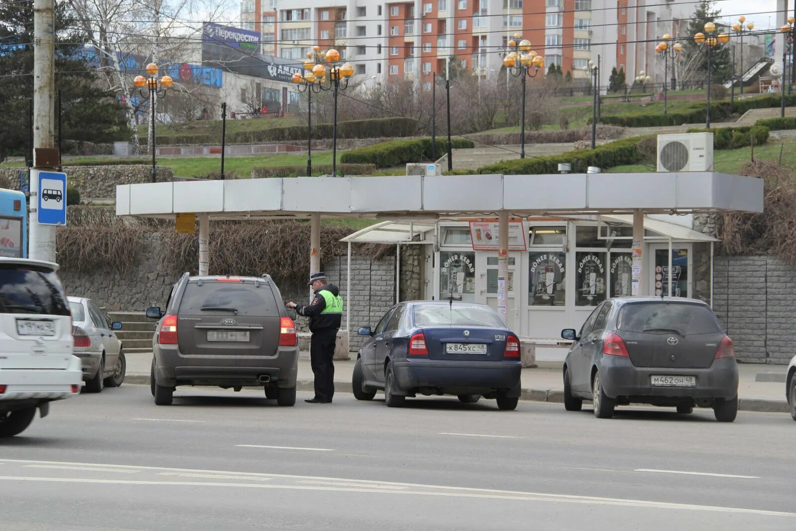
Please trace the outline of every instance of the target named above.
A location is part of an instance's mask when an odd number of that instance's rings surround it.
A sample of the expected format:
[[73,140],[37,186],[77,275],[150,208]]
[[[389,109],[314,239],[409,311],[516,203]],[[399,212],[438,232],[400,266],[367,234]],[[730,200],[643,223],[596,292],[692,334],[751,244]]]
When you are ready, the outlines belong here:
[[49,403],[80,392],[72,315],[57,264],[0,258],[0,438],[18,435]]

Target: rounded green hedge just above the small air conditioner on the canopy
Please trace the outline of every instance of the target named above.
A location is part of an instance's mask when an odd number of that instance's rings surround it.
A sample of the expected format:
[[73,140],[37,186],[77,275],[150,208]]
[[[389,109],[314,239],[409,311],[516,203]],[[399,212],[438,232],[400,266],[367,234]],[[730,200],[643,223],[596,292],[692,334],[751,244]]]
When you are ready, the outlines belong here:
[[[447,140],[437,140],[437,154],[447,150]],[[475,143],[467,139],[452,139],[454,149],[472,149]],[[423,162],[431,159],[431,139],[392,140],[373,146],[360,147],[342,154],[340,162],[351,164],[373,164],[378,168],[392,168],[408,162]]]

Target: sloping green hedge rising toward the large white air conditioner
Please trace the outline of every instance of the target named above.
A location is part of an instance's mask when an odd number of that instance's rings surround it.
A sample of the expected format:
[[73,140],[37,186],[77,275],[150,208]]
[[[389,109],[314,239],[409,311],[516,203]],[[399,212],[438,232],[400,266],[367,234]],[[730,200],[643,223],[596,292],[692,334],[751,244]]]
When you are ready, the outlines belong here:
[[572,172],[585,173],[588,166],[597,166],[603,170],[614,166],[638,164],[642,162],[643,155],[638,151],[637,145],[646,136],[636,136],[631,139],[617,140],[603,144],[593,150],[574,150],[549,157],[516,158],[482,166],[478,168],[479,174],[556,174],[561,162],[572,164]]

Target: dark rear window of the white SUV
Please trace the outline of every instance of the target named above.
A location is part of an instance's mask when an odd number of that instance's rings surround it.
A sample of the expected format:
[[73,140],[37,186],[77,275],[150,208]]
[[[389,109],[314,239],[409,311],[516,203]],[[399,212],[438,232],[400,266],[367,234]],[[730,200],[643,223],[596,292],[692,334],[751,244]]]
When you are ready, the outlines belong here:
[[0,313],[69,315],[69,303],[53,270],[2,264]]

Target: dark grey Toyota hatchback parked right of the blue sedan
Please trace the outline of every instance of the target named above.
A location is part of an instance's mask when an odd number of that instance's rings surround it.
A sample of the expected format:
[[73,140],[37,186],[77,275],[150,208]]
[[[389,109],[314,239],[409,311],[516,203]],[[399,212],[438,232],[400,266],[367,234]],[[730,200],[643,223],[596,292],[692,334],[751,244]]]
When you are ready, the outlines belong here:
[[713,408],[716,420],[738,412],[738,367],[732,341],[710,306],[694,299],[621,297],[591,313],[564,361],[564,407],[579,411],[583,399],[595,416],[610,418],[616,405],[695,405]]

